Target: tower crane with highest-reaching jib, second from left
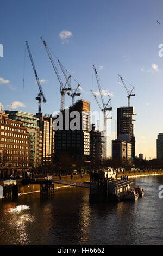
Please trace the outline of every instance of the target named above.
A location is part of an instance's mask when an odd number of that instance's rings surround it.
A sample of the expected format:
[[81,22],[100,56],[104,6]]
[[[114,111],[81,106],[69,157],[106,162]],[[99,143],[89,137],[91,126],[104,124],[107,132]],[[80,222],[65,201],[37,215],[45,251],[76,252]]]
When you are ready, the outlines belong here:
[[61,107],[60,107],[60,110],[62,111],[62,110],[65,109],[65,93],[66,93],[67,91],[71,91],[71,88],[70,88],[70,87],[66,87],[66,85],[67,85],[68,81],[70,80],[71,76],[69,76],[69,77],[67,78],[66,83],[65,83],[65,86],[64,86],[64,84],[63,84],[62,81],[61,81],[61,78],[60,78],[59,72],[58,72],[58,70],[57,70],[57,67],[55,66],[54,60],[53,60],[53,58],[52,58],[52,56],[51,56],[51,52],[50,52],[50,50],[49,50],[49,47],[48,47],[47,44],[46,44],[46,41],[45,41],[42,37],[40,37],[40,39],[42,40],[43,45],[45,46],[45,49],[46,49],[46,51],[47,51],[47,54],[48,54],[48,56],[49,56],[49,59],[51,60],[53,69],[54,69],[54,71],[55,71],[55,74],[57,75],[57,78],[58,78],[59,83],[60,83],[60,94],[61,94]]

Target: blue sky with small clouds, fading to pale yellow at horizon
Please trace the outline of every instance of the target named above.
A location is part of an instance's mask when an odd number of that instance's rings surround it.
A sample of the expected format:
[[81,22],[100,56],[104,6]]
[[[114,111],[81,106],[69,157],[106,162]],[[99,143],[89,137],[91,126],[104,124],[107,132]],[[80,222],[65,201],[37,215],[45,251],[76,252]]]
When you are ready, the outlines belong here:
[[[109,92],[111,97],[108,156],[111,156],[111,139],[115,139],[117,108],[127,106],[127,92],[118,74],[135,87],[136,96],[131,97],[136,113],[135,151],[136,155],[143,153],[146,159],[153,159],[157,135],[163,132],[163,58],[162,54],[159,56],[159,45],[163,44],[162,8],[161,0],[1,1],[2,108],[37,112],[35,97],[39,89],[25,45],[27,40],[47,99],[42,103],[42,112],[52,114],[60,109],[60,84],[41,43],[42,36],[80,83],[80,98],[90,101],[91,111],[99,111],[90,92],[92,89],[98,94],[92,64],[96,66],[103,93]],[[54,54],[52,57],[56,63]],[[57,68],[64,81],[59,66]],[[129,83],[126,83],[128,89]],[[72,84],[76,88],[73,79]],[[104,96],[104,101],[107,99],[108,96]],[[66,95],[65,106],[70,105],[71,97]]]

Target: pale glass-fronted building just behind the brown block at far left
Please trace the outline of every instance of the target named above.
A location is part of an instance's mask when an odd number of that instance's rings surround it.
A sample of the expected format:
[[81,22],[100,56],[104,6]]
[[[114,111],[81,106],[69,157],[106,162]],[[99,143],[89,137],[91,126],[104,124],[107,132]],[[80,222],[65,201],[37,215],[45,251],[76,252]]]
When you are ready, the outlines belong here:
[[42,163],[42,131],[39,127],[39,118],[22,111],[6,110],[5,113],[10,119],[21,121],[23,126],[27,127],[30,137],[30,165],[39,167]]

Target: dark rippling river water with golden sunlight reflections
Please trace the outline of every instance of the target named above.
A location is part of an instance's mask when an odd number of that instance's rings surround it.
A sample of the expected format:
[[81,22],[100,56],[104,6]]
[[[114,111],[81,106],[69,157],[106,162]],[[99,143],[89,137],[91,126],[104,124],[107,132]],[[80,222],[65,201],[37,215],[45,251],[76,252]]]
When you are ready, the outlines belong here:
[[25,194],[0,202],[0,245],[162,245],[163,175],[135,179],[137,202],[89,203],[89,190],[67,187],[51,199]]

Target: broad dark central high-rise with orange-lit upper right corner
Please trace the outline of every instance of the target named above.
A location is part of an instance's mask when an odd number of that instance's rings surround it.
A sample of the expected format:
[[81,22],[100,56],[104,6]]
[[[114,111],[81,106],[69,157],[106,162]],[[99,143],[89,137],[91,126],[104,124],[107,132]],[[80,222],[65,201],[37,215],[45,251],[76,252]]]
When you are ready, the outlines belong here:
[[[62,155],[73,157],[74,160],[88,159],[90,155],[89,102],[80,99],[60,114],[63,117],[63,126],[55,131],[55,161],[58,161]],[[57,123],[58,117],[54,117],[53,120]],[[76,127],[71,127],[72,124]]]

